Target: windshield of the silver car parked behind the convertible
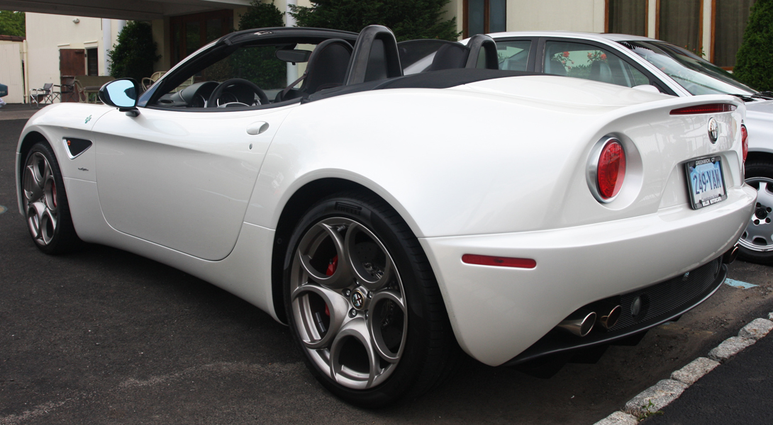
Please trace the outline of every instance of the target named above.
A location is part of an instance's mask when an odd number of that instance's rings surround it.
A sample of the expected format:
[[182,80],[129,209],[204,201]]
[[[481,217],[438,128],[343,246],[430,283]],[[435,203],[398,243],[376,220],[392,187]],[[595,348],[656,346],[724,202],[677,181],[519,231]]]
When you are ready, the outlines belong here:
[[736,80],[733,74],[667,42],[620,42],[658,67],[692,94],[745,94],[756,90]]

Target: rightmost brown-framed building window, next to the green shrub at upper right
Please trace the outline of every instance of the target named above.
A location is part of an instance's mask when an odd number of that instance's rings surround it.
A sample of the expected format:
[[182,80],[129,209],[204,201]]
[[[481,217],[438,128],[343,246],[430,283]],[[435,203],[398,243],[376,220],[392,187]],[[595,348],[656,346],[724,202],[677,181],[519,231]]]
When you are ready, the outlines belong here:
[[716,0],[711,60],[717,66],[735,66],[735,55],[744,39],[744,29],[754,0]]

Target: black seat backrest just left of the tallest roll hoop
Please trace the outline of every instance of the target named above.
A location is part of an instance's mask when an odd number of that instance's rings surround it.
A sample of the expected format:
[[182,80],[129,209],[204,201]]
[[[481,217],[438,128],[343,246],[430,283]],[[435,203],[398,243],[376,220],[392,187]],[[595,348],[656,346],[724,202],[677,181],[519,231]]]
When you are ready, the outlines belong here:
[[318,44],[308,57],[301,93],[341,86],[352,59],[352,45],[342,39],[329,39]]

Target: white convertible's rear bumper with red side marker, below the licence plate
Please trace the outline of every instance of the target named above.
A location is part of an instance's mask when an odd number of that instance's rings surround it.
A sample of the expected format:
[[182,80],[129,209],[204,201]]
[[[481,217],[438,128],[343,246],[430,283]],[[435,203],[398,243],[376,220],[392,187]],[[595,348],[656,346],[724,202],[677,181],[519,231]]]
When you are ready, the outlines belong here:
[[[677,206],[587,226],[421,243],[461,347],[501,365],[585,304],[651,287],[720,257],[743,233],[756,199],[745,185],[727,195],[699,210]],[[536,267],[463,263],[468,253],[530,258]]]

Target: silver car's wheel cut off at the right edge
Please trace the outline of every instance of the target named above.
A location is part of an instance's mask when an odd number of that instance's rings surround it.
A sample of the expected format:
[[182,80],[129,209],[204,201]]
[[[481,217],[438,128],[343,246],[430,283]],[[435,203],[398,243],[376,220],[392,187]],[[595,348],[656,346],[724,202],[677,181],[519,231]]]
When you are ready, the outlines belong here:
[[773,264],[773,163],[746,164],[746,182],[757,189],[757,206],[738,243],[742,260]]

